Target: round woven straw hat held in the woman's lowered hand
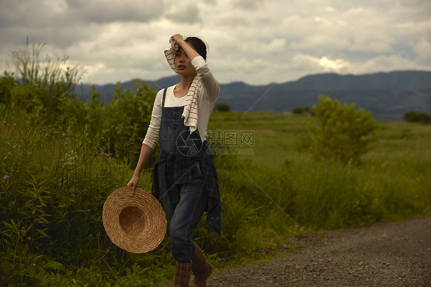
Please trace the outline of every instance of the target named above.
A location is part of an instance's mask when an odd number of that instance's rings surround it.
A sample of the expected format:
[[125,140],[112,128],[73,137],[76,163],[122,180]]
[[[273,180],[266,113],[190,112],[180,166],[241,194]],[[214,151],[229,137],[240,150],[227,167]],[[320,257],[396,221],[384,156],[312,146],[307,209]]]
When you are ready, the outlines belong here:
[[153,250],[166,233],[166,215],[160,202],[148,191],[121,187],[103,205],[103,226],[118,247],[133,253]]

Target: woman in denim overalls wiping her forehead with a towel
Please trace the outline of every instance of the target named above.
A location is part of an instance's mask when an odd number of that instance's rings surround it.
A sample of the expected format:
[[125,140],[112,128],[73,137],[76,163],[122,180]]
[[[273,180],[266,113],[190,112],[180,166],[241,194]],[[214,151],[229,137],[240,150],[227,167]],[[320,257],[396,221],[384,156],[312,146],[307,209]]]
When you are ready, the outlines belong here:
[[127,184],[132,193],[139,174],[160,139],[154,166],[152,194],[166,213],[167,233],[176,260],[175,286],[205,286],[212,272],[202,251],[192,240],[204,211],[206,223],[221,235],[220,190],[214,157],[206,140],[208,119],[220,92],[219,82],[206,64],[206,46],[196,37],[173,35],[165,50],[178,84],[157,93],[151,122],[142,143],[138,164]]

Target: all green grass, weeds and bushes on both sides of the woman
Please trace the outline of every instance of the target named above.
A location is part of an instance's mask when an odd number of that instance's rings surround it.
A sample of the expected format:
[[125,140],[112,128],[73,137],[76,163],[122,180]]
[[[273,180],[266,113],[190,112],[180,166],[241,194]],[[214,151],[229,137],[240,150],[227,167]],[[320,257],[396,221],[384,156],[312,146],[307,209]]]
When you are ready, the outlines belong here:
[[[17,52],[18,74],[0,78],[1,285],[165,285],[174,269],[168,238],[132,254],[102,223],[105,199],[133,174],[156,91],[135,81],[136,91],[117,85],[110,103],[95,88],[84,103],[73,88],[85,71],[60,69],[67,58],[41,62],[42,48]],[[318,115],[331,109],[352,128],[314,142],[325,135]],[[431,212],[431,126],[357,111],[322,96],[315,117],[212,113],[223,232],[202,219],[195,238],[215,267],[261,258],[286,236]],[[358,138],[336,140],[346,133]],[[328,142],[354,152],[319,154]],[[141,175],[145,190],[156,157]]]

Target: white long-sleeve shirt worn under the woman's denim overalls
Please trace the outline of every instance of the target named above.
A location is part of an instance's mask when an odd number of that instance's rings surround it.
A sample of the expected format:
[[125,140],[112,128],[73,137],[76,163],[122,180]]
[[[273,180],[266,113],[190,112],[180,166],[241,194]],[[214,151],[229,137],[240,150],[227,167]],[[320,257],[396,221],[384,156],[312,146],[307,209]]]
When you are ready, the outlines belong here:
[[[212,109],[214,108],[215,101],[220,93],[220,84],[217,79],[211,73],[206,61],[201,56],[197,56],[191,60],[191,64],[199,76],[202,88],[197,100],[197,130],[199,131],[200,139],[202,142],[206,140],[206,130],[208,128],[208,120],[211,115]],[[173,90],[176,85],[168,87],[166,90],[166,98],[164,102],[165,107],[182,107],[185,106],[186,96],[182,98],[176,98]],[[148,126],[148,131],[145,135],[145,139],[142,142],[150,148],[154,149],[159,140],[159,129],[161,121],[163,101],[163,90],[160,90],[154,101],[153,111],[151,113],[151,121]]]

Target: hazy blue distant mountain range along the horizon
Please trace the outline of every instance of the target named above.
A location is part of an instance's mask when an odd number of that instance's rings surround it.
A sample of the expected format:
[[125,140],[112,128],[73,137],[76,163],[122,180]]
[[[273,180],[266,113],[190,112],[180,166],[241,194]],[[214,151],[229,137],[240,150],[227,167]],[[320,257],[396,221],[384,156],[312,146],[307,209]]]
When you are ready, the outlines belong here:
[[[148,85],[165,88],[179,82],[178,76],[162,78]],[[132,81],[120,84],[132,89]],[[77,95],[88,100],[90,85],[78,86]],[[97,86],[108,103],[114,95],[113,84]],[[397,71],[366,75],[316,74],[297,81],[252,86],[243,82],[220,85],[217,103],[226,103],[232,111],[272,111],[290,113],[297,107],[313,106],[320,94],[342,104],[373,113],[376,119],[402,120],[407,111],[431,114],[431,72]]]

